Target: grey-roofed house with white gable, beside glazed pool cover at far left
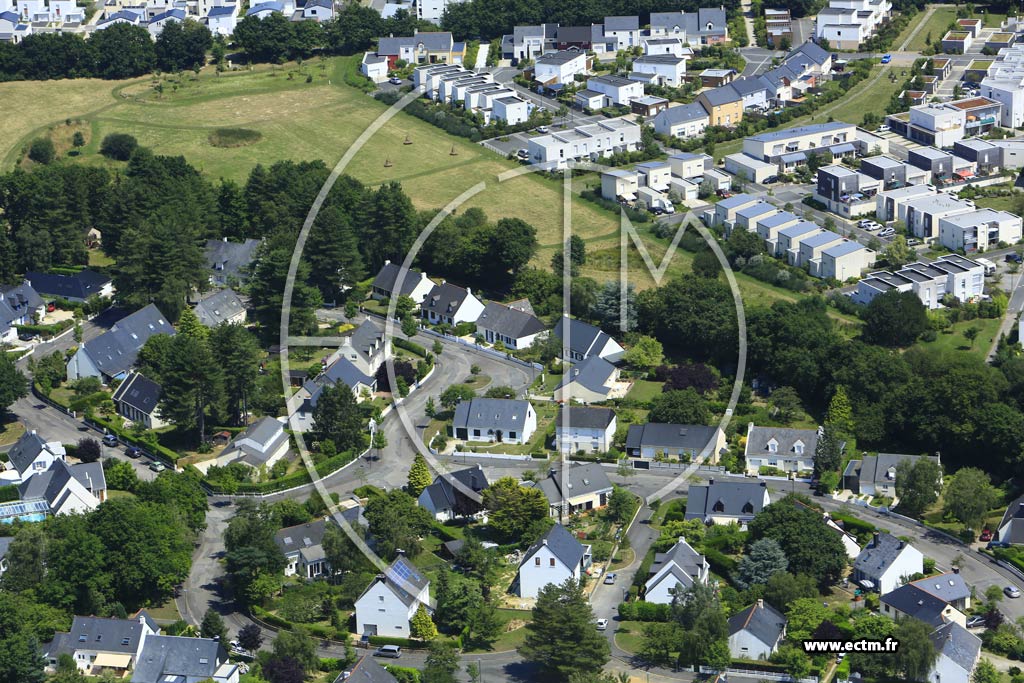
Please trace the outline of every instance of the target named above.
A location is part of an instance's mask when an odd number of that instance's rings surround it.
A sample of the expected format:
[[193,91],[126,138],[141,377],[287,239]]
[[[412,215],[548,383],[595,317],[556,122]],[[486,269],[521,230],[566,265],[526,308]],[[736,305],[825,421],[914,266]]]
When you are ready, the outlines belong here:
[[106,500],[106,477],[98,462],[68,465],[54,460],[45,472],[24,479],[17,493],[23,503],[39,502],[44,514],[92,512]]

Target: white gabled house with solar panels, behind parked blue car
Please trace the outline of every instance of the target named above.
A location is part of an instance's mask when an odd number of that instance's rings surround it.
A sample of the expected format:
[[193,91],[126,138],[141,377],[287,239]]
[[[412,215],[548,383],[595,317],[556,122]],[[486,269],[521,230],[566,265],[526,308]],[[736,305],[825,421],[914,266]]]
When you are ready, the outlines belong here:
[[430,580],[399,555],[355,601],[356,633],[409,638],[409,621],[421,604],[430,606]]

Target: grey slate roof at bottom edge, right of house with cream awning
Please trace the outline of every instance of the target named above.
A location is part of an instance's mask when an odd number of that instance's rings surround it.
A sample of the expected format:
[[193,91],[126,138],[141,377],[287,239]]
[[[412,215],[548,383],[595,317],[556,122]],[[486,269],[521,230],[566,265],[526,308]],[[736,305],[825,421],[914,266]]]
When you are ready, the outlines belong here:
[[[183,636],[147,636],[131,683],[178,683],[213,678],[227,652],[216,640]],[[233,667],[234,665],[228,665]]]

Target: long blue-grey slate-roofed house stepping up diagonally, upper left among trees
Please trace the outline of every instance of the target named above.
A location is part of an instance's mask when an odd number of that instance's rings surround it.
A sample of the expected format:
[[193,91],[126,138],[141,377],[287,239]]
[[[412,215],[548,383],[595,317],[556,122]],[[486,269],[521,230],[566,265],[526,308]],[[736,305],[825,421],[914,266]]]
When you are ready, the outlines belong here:
[[96,377],[106,382],[124,377],[135,365],[139,349],[158,334],[174,335],[174,328],[151,303],[79,346],[68,360],[68,381]]

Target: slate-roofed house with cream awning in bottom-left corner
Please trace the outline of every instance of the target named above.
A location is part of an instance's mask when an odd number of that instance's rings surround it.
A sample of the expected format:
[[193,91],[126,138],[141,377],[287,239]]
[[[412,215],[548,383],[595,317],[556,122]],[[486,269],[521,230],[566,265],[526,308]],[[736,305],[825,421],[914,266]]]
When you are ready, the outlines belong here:
[[71,629],[54,633],[43,645],[43,658],[51,672],[60,655],[67,654],[86,676],[111,673],[124,677],[137,665],[145,638],[159,633],[160,627],[145,610],[131,618],[76,615]]

